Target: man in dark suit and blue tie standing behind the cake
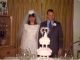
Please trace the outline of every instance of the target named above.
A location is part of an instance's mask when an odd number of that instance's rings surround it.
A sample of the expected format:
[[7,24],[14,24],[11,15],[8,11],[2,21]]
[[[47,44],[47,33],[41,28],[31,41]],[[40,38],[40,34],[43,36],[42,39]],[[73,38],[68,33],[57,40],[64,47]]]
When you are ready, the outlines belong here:
[[[40,29],[42,27],[48,27],[49,33],[48,37],[50,38],[50,45],[49,48],[52,49],[51,57],[60,57],[62,55],[63,49],[63,32],[61,24],[55,21],[55,14],[52,9],[48,9],[47,11],[47,21],[44,21],[40,25]],[[42,37],[42,34],[39,31],[39,38]],[[40,47],[38,41],[38,47]]]

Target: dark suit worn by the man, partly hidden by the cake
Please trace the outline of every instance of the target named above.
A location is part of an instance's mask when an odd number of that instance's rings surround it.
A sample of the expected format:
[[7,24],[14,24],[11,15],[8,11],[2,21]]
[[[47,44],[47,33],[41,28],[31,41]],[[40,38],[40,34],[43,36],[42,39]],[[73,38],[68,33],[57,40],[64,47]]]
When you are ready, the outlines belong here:
[[[61,24],[57,21],[54,21],[54,23],[56,23],[56,26],[53,26],[48,34],[48,37],[50,38],[49,48],[52,49],[51,57],[57,56],[59,48],[63,48],[63,32],[62,32]],[[47,27],[47,21],[42,22],[40,28],[41,27]],[[39,38],[41,37],[42,35],[39,31]],[[39,44],[39,40],[38,40],[38,47],[40,46],[41,45]]]

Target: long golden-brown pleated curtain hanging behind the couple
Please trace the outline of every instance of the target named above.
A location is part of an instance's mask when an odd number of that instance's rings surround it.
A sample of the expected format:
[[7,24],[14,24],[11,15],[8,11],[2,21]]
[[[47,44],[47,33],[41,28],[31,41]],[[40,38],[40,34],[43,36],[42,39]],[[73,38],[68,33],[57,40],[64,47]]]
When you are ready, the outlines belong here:
[[8,15],[13,17],[13,45],[17,42],[16,34],[28,10],[34,9],[46,20],[46,11],[50,8],[62,25],[64,47],[70,48],[73,41],[73,0],[8,0]]

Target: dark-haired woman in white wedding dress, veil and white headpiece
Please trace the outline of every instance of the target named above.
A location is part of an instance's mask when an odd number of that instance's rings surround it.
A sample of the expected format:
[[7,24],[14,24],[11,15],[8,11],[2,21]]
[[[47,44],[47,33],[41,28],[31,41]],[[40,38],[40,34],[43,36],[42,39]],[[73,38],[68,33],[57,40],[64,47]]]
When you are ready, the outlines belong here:
[[25,16],[21,29],[21,49],[30,50],[31,54],[36,54],[38,48],[38,31],[40,19],[34,10],[29,10]]

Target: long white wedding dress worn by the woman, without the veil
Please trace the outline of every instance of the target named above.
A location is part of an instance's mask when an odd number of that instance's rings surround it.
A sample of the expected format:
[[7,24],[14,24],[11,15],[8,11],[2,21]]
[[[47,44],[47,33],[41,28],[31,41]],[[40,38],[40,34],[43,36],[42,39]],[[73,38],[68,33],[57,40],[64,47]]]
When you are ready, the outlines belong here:
[[38,48],[39,25],[24,24],[23,35],[21,39],[21,49],[30,49],[32,54],[36,54]]

